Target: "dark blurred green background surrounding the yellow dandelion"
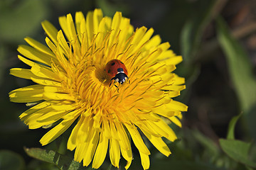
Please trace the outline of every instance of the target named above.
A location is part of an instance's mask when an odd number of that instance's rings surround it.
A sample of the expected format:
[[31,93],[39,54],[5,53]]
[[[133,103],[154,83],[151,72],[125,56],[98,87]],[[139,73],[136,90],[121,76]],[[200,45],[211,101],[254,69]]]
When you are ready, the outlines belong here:
[[[16,49],[26,36],[44,43],[42,21],[60,29],[59,16],[94,8],[102,8],[106,16],[122,11],[134,28],[154,28],[183,55],[175,72],[186,78],[186,90],[176,100],[186,103],[188,112],[183,113],[183,128],[173,127],[179,140],[169,143],[169,158],[149,145],[150,169],[256,168],[255,0],[0,0],[0,169],[68,169],[61,166],[65,162],[41,162],[24,151],[40,147],[73,157],[65,150],[69,132],[41,147],[47,130],[28,130],[18,119],[27,107],[11,103],[8,93],[31,81],[12,77],[9,69],[27,68]],[[241,116],[230,121],[236,115]],[[121,160],[121,169],[124,164]],[[101,169],[114,169],[109,165],[107,157]],[[142,169],[135,149],[130,169]]]

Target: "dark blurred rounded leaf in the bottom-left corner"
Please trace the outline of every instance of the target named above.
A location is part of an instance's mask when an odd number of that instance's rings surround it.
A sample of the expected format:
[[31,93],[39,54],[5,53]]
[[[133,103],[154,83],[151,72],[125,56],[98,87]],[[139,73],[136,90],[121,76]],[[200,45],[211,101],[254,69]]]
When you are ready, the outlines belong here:
[[9,150],[0,150],[0,169],[19,170],[24,169],[24,166],[25,162],[19,154]]

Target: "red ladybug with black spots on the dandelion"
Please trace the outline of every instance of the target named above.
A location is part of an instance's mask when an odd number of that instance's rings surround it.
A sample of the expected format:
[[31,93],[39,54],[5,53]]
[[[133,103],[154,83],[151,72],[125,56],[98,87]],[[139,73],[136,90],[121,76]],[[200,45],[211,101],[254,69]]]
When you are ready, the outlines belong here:
[[111,81],[114,80],[114,82],[123,84],[124,81],[128,79],[127,68],[125,67],[124,63],[121,62],[120,60],[117,60],[117,59],[110,60],[110,62],[107,62],[105,70],[107,74],[110,77],[112,77]]

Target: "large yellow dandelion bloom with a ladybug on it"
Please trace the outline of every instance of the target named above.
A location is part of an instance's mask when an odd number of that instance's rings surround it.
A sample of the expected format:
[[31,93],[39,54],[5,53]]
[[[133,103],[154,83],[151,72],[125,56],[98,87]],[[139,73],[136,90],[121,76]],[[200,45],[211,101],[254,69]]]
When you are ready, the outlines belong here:
[[[30,129],[58,123],[44,135],[42,145],[55,140],[75,122],[67,147],[75,149],[75,161],[99,168],[109,148],[110,161],[119,167],[119,159],[132,162],[131,142],[139,150],[144,169],[149,169],[149,149],[141,132],[169,156],[162,137],[176,140],[174,131],[163,118],[181,126],[181,111],[187,106],[174,98],[185,89],[184,79],[172,73],[182,61],[161,43],[152,28],[134,28],[129,18],[117,12],[113,18],[100,9],[59,18],[61,30],[48,21],[46,45],[25,38],[28,45],[18,47],[18,59],[31,69],[14,68],[16,77],[31,79],[35,85],[9,93],[17,103],[34,103],[20,115]],[[123,84],[113,82],[105,67],[120,60],[127,68]],[[112,81],[112,83],[111,83]],[[114,86],[115,85],[115,86]],[[116,87],[117,86],[117,87]],[[139,132],[140,131],[140,132]]]

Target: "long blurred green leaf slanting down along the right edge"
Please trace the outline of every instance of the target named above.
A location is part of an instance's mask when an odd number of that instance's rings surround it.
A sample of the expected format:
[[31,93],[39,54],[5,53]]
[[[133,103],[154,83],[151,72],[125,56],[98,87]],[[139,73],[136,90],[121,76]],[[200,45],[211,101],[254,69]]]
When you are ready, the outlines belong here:
[[256,81],[252,74],[252,63],[245,50],[230,35],[223,18],[218,18],[218,40],[228,60],[230,77],[245,114],[249,113],[256,103]]

